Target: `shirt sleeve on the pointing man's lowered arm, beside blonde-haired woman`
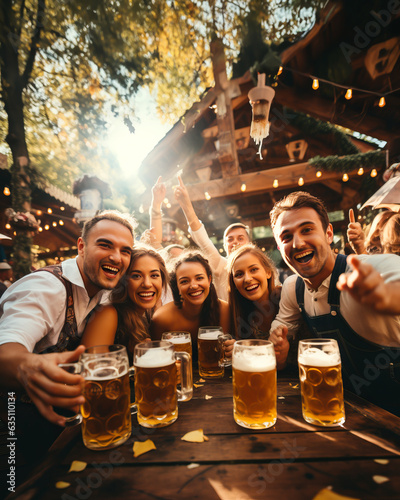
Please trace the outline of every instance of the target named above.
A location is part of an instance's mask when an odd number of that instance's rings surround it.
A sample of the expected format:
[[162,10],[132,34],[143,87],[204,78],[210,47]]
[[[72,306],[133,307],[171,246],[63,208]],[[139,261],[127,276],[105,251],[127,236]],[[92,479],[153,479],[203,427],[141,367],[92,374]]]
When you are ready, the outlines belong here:
[[299,328],[301,312],[296,300],[296,280],[297,274],[293,274],[283,282],[279,312],[271,324],[271,332],[278,326],[286,326],[295,335]]

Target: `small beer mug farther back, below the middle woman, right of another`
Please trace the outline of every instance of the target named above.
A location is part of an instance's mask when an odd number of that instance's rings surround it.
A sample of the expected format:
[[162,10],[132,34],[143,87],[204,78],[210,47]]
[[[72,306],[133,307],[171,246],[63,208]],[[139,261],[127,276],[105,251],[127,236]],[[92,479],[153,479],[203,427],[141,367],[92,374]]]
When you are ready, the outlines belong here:
[[223,334],[219,326],[203,326],[197,334],[199,350],[199,374],[205,378],[224,376],[224,350],[218,336]]

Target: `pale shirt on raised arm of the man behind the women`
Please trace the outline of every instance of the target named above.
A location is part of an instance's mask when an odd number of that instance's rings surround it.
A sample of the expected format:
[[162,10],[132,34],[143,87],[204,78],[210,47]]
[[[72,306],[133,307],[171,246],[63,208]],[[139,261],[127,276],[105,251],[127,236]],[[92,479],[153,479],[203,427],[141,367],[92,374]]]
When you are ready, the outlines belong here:
[[210,263],[213,272],[213,283],[220,299],[228,301],[228,270],[227,259],[216,249],[210,240],[204,224],[197,231],[192,231],[189,227],[194,242],[200,247],[205,257]]

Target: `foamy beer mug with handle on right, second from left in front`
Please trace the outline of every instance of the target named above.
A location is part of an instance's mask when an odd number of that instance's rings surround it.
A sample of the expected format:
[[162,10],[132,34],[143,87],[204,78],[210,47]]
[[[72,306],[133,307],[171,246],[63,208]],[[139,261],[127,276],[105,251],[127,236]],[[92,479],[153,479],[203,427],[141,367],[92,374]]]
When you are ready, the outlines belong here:
[[[181,361],[182,389],[177,389],[175,361]],[[178,418],[178,400],[182,401],[189,386],[190,355],[175,352],[166,341],[142,342],[133,353],[137,418],[143,427],[165,427]]]

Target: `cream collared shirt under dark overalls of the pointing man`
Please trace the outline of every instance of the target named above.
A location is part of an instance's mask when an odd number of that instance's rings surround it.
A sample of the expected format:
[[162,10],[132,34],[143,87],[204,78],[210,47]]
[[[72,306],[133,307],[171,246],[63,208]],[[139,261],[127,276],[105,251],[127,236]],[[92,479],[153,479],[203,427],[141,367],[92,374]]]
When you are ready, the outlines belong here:
[[[360,261],[371,264],[385,282],[400,280],[400,257],[392,254],[358,255]],[[346,272],[351,271],[349,265]],[[289,276],[283,283],[279,313],[272,322],[271,331],[280,325],[288,327],[295,335],[301,320],[296,300],[297,274]],[[318,290],[305,287],[304,307],[310,316],[329,314],[328,290],[331,276],[328,276]],[[400,315],[380,314],[371,307],[357,302],[348,292],[340,294],[340,313],[350,327],[361,337],[385,346],[400,346]]]

